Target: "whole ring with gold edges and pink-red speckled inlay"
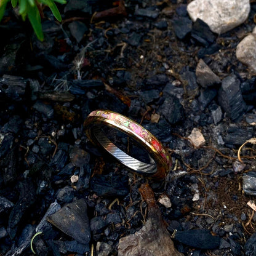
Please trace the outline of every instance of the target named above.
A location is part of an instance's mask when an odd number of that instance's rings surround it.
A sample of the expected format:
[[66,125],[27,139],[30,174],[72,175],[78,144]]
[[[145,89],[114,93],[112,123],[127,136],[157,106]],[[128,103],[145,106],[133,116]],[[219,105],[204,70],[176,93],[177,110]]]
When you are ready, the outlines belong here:
[[[110,110],[92,111],[84,121],[84,128],[90,142],[104,148],[124,166],[138,174],[162,179],[172,166],[170,155],[162,143],[140,124],[122,114]],[[138,160],[116,146],[110,139],[113,130],[127,135],[127,140],[133,140],[141,146],[148,153],[149,161]]]

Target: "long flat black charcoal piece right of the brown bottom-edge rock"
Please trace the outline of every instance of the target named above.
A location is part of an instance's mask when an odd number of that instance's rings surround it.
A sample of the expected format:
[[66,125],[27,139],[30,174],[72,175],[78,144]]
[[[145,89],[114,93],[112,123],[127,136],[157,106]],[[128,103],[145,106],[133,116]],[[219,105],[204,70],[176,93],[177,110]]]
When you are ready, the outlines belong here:
[[209,230],[177,231],[174,239],[199,249],[217,249],[220,246],[220,238],[213,236]]

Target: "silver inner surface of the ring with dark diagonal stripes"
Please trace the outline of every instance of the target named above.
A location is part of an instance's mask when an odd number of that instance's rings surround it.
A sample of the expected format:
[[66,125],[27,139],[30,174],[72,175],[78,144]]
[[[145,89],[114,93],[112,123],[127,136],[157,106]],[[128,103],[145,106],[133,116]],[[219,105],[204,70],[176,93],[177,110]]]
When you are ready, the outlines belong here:
[[120,150],[118,146],[114,145],[111,140],[106,137],[102,129],[98,126],[94,126],[93,128],[94,136],[97,138],[98,142],[108,151],[114,158],[118,159],[122,164],[129,167],[136,172],[142,172],[143,174],[154,174],[156,172],[157,167],[156,163],[151,159],[154,163],[147,164],[146,162],[139,161],[138,159],[132,158],[129,154],[126,154],[124,151]]

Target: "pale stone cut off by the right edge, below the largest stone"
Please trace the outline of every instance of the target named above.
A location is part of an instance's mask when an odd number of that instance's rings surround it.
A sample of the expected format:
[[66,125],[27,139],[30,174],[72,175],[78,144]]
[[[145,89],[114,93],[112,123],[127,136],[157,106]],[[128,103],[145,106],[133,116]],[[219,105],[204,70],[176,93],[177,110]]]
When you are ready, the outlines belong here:
[[236,47],[236,58],[249,66],[251,71],[256,72],[256,27]]

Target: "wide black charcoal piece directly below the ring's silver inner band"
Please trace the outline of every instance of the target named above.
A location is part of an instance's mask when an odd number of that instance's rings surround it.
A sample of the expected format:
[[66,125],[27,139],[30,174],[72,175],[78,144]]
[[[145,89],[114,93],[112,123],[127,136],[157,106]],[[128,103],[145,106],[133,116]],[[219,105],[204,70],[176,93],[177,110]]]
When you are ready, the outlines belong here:
[[95,175],[90,188],[98,196],[126,196],[129,193],[127,178],[116,174]]

